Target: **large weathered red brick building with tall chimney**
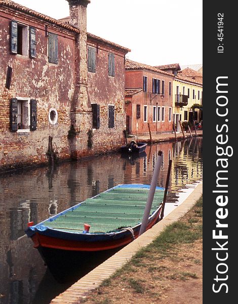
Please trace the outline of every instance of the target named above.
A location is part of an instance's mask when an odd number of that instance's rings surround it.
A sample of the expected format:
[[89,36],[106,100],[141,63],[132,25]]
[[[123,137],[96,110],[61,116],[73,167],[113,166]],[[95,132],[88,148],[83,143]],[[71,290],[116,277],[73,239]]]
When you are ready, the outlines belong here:
[[64,23],[0,0],[0,169],[121,144],[130,50],[87,32],[90,0],[67,1]]

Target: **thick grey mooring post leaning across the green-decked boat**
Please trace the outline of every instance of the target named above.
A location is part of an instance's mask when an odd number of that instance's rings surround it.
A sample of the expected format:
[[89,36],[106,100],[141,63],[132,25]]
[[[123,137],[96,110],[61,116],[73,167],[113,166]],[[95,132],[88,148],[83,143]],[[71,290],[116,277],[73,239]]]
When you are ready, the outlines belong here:
[[147,198],[147,202],[145,205],[145,210],[144,210],[144,215],[143,215],[143,219],[142,219],[142,223],[141,223],[141,227],[140,227],[139,236],[142,235],[142,233],[144,233],[146,231],[146,226],[148,223],[149,214],[150,214],[150,210],[151,210],[151,206],[152,206],[152,202],[153,202],[153,198],[154,198],[155,188],[156,188],[156,184],[158,181],[158,175],[160,174],[160,170],[161,170],[162,160],[163,160],[162,151],[158,151],[157,160],[156,160],[153,176],[152,176],[150,187],[149,187],[148,198]]

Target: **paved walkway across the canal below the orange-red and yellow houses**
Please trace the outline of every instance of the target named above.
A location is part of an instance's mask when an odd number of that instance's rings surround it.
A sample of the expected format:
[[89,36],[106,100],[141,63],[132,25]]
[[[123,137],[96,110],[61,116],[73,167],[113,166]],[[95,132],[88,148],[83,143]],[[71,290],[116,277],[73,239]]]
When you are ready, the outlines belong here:
[[[192,136],[195,137],[195,131],[192,131]],[[184,133],[185,138],[190,138],[190,133]],[[196,130],[196,135],[197,136],[203,136],[203,130]],[[178,140],[183,139],[183,134],[182,133],[176,133],[176,137]],[[128,138],[128,140],[130,141],[133,138]],[[134,139],[137,141],[137,136],[135,135]],[[176,140],[175,139],[175,135],[174,133],[170,133],[170,134],[152,134],[152,142],[162,142],[162,141],[173,141]],[[139,142],[147,142],[150,143],[150,137],[149,135],[139,135],[138,136],[138,141]]]

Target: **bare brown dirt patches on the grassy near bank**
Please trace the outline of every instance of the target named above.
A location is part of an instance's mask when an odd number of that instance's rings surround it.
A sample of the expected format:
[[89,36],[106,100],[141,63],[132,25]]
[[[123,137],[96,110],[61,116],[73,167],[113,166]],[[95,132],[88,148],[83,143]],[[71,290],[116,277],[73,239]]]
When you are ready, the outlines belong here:
[[[189,223],[193,230],[198,225],[201,227],[202,215],[193,208],[180,221]],[[149,257],[142,254],[141,258],[129,262],[82,302],[202,304],[202,254],[202,237],[174,245],[169,254],[152,250]]]

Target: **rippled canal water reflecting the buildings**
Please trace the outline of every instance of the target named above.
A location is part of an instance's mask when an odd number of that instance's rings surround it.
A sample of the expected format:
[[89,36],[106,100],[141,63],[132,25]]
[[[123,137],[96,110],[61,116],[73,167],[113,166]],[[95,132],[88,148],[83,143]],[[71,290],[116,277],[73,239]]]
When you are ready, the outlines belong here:
[[167,204],[175,208],[202,180],[201,137],[148,145],[139,156],[114,153],[2,174],[0,303],[48,304],[72,284],[58,283],[48,271],[32,241],[25,236],[29,221],[42,221],[117,184],[150,184],[159,150],[163,152],[163,162],[157,185],[165,186],[172,159]]

